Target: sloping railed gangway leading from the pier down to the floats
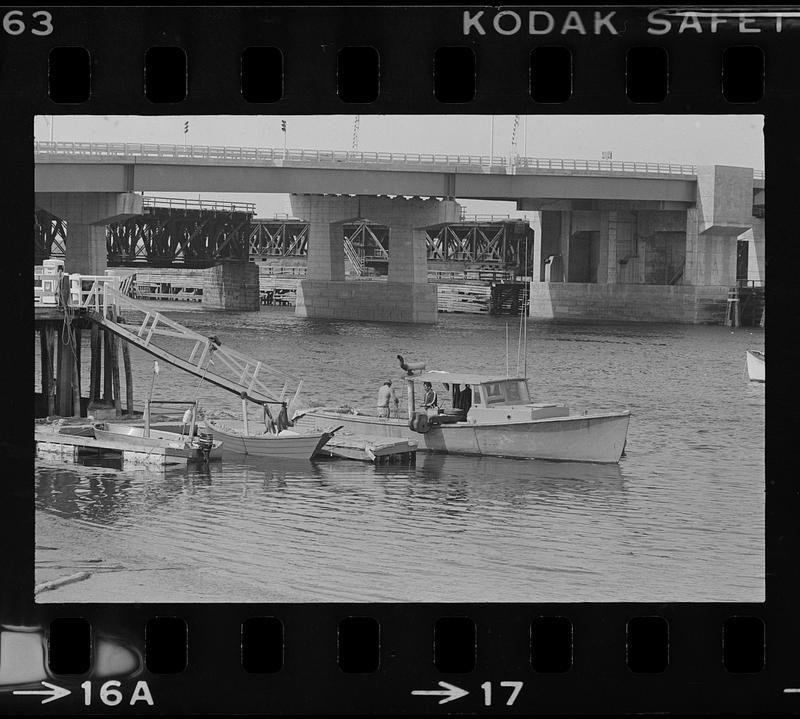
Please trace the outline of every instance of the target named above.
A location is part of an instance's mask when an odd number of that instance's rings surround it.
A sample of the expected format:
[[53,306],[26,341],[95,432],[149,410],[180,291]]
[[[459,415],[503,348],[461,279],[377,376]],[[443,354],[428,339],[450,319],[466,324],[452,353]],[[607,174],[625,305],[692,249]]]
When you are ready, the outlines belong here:
[[148,309],[121,293],[114,283],[94,282],[81,296],[80,306],[90,310],[90,317],[104,329],[132,346],[242,399],[291,404],[300,394],[303,383],[297,377]]

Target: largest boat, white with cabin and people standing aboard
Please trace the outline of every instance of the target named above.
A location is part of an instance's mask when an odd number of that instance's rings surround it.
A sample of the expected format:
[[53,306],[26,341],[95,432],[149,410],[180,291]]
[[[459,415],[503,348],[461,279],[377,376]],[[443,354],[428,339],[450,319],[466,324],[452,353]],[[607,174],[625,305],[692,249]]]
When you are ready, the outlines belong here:
[[[420,363],[401,366],[411,368],[403,377],[407,418],[322,407],[295,413],[295,426],[324,430],[340,425],[357,435],[412,439],[421,451],[479,456],[614,463],[624,452],[628,410],[577,414],[566,405],[532,402],[526,377],[425,371]],[[433,416],[416,409],[415,385],[422,382],[452,393],[454,408]]]

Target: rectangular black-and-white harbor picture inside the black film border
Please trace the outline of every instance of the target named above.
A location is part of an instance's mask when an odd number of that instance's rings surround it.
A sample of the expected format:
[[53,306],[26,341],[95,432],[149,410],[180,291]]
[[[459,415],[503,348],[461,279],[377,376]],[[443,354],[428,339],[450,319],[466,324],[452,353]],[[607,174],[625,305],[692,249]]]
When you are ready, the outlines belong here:
[[763,602],[763,131],[37,115],[35,602]]

